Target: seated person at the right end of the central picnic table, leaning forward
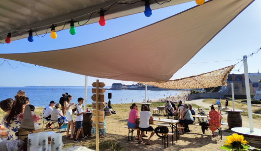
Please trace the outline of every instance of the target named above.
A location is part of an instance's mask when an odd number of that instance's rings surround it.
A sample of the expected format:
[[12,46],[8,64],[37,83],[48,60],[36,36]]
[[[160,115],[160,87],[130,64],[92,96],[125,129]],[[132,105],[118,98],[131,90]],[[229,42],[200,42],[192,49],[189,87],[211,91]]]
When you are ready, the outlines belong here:
[[[187,104],[184,105],[184,109],[181,111],[180,113],[181,119],[179,120],[178,126],[181,127],[182,124],[184,124],[185,126],[189,125],[189,124],[193,124],[194,123],[194,119],[192,117],[191,111],[189,109],[189,106]],[[183,134],[182,129],[178,128],[180,134]]]

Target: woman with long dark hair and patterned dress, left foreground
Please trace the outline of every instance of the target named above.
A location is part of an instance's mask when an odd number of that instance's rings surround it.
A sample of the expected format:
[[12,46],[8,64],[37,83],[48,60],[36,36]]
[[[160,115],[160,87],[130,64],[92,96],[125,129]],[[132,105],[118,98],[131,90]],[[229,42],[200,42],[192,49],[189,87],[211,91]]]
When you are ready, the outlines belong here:
[[13,102],[12,109],[9,115],[4,118],[3,125],[7,130],[10,140],[16,140],[15,133],[18,132],[18,128],[21,126],[21,122],[18,121],[17,115],[24,113],[25,106],[30,104],[29,98],[25,96],[16,95],[15,101]]

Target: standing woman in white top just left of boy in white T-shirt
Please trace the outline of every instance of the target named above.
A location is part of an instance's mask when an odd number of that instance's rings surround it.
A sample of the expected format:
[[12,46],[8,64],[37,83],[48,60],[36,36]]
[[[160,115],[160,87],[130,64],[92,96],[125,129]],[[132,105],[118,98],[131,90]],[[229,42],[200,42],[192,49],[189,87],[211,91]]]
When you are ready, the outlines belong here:
[[65,117],[68,119],[68,127],[67,127],[67,131],[66,131],[66,137],[69,137],[69,129],[71,127],[71,139],[73,139],[73,129],[74,129],[74,124],[73,124],[73,120],[72,120],[72,110],[71,110],[71,106],[74,105],[74,103],[70,103],[72,99],[71,95],[68,95],[65,99],[64,105],[65,105]]

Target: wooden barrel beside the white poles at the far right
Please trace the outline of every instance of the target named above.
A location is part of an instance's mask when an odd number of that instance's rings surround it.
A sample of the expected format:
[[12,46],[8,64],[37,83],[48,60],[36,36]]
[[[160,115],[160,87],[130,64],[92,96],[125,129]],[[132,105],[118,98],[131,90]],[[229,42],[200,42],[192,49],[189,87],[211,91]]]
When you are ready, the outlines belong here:
[[228,111],[228,128],[242,127],[241,112]]

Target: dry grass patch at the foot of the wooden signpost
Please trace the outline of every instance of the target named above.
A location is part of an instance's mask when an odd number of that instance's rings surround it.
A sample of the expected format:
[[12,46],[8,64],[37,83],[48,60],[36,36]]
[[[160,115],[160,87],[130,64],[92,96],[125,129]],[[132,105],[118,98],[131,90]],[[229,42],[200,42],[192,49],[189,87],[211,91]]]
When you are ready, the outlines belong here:
[[[92,142],[89,145],[89,148],[95,150],[96,149],[96,141]],[[99,150],[100,151],[105,151],[105,150],[109,150],[109,151],[125,151],[124,148],[121,147],[121,145],[120,145],[120,143],[118,141],[112,141],[112,140],[100,142],[99,143]]]

